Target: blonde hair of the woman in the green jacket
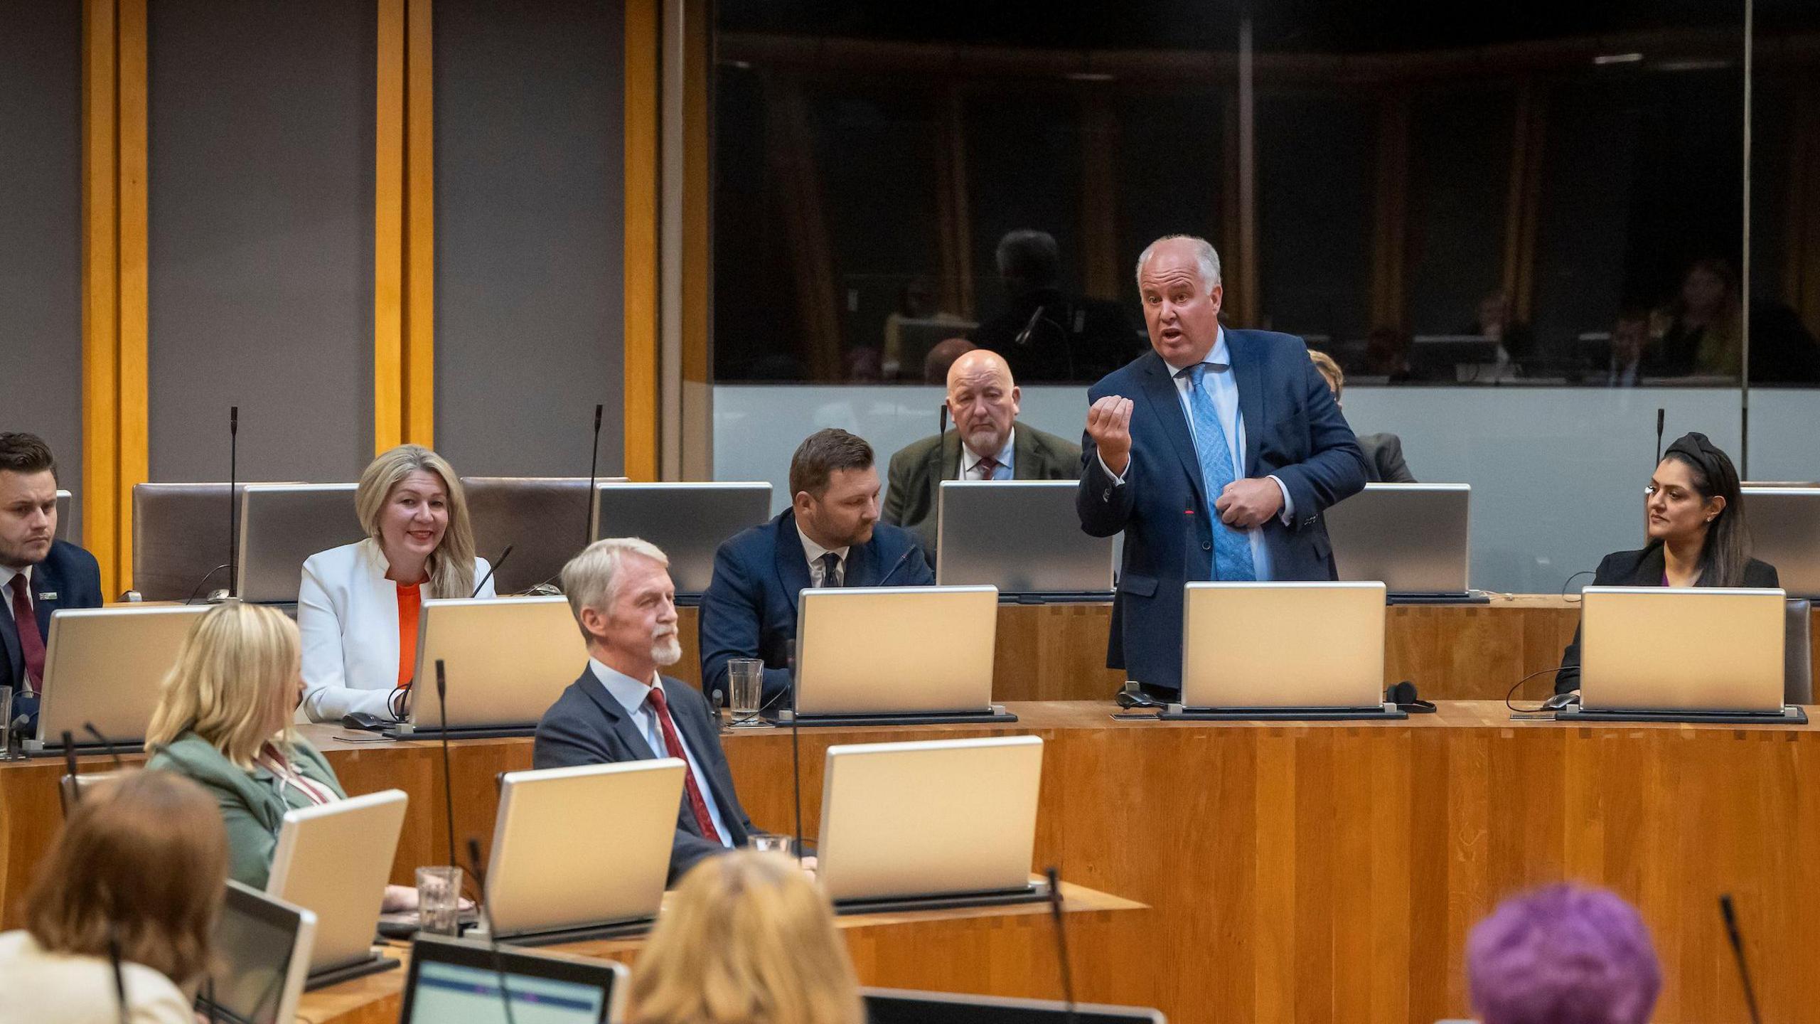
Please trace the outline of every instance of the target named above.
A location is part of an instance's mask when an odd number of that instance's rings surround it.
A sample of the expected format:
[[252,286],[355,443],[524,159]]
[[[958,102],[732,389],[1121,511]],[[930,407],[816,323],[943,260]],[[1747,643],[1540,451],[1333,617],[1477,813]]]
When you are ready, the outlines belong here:
[[268,742],[291,743],[300,650],[297,623],[277,609],[240,601],[209,609],[164,676],[146,747],[187,731],[251,771]]

